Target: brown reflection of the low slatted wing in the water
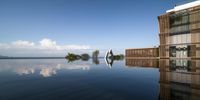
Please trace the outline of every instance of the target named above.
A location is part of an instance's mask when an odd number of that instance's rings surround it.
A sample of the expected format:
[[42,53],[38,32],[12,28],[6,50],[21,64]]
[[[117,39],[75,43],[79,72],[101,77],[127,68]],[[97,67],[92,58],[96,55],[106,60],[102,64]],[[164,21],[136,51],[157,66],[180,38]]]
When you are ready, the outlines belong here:
[[159,61],[156,59],[126,59],[126,66],[128,67],[153,67],[158,68]]

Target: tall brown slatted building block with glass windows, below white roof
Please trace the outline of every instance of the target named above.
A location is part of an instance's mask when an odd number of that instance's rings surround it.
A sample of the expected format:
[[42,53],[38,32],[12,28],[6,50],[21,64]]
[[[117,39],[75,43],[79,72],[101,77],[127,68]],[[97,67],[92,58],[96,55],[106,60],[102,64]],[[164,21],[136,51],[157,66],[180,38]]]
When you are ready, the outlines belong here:
[[200,6],[161,15],[160,58],[199,58]]

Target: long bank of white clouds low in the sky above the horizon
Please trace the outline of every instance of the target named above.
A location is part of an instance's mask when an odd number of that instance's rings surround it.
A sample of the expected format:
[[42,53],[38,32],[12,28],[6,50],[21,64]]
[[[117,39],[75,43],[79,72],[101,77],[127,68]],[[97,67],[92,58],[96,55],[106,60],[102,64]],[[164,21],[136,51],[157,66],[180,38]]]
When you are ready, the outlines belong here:
[[65,56],[69,51],[80,52],[88,49],[89,45],[58,45],[56,41],[48,38],[35,43],[24,40],[0,43],[0,55],[6,56]]

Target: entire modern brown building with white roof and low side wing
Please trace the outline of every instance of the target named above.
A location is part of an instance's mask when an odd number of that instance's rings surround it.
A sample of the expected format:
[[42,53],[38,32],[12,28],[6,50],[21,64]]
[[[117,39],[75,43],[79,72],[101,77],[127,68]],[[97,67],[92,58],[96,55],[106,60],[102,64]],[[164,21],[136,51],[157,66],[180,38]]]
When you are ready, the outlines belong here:
[[154,48],[126,49],[126,58],[200,59],[200,0],[167,10],[158,22],[159,54]]

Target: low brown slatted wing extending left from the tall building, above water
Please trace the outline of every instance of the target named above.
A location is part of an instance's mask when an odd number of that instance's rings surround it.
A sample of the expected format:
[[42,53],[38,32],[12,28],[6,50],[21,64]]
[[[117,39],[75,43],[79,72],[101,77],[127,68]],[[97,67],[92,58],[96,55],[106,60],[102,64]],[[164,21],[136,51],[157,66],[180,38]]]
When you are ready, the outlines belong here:
[[159,57],[158,48],[126,49],[126,58],[156,59]]

